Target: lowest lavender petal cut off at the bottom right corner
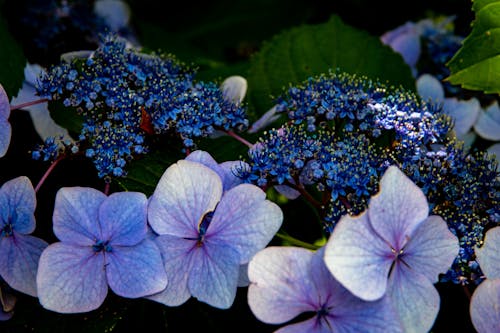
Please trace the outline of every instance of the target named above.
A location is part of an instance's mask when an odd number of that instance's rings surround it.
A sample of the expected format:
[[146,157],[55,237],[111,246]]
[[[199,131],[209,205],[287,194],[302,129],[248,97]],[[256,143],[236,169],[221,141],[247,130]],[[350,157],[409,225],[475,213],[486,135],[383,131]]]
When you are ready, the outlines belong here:
[[470,317],[478,333],[500,332],[500,279],[486,279],[474,290]]

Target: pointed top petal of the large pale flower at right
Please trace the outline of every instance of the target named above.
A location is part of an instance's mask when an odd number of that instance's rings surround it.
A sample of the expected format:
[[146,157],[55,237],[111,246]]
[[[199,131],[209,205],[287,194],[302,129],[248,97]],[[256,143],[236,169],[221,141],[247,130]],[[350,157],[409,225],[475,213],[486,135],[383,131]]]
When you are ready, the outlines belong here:
[[387,168],[380,192],[368,206],[375,232],[399,251],[428,215],[429,204],[422,190],[396,166]]

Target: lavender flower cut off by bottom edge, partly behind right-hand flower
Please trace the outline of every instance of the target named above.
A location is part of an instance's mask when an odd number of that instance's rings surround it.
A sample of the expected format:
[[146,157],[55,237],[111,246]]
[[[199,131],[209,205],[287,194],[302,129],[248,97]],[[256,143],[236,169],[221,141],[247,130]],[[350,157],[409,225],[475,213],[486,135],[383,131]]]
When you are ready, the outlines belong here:
[[367,302],[338,283],[316,252],[298,247],[268,247],[248,265],[248,305],[268,324],[288,322],[300,314],[312,317],[276,333],[402,332],[387,297]]

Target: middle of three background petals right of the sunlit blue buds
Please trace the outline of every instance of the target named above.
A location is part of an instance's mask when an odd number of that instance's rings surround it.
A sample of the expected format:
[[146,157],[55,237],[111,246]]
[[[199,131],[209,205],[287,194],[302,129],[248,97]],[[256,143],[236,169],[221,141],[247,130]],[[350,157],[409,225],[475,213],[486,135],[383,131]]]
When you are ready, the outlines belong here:
[[453,130],[461,139],[476,123],[481,112],[481,104],[476,98],[466,101],[447,98],[443,104],[443,111],[453,119]]

